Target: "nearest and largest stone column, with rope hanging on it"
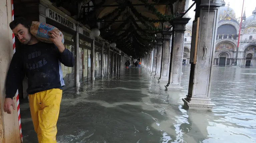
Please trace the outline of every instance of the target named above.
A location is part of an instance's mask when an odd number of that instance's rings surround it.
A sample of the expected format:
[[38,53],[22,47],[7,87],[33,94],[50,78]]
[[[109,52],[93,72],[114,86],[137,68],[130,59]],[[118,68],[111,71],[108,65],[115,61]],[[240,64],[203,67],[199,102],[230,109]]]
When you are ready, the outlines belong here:
[[[208,14],[209,0],[201,0],[201,4],[197,4],[195,19],[200,17],[200,20],[195,51],[196,64],[191,64],[189,92],[187,97],[182,99],[184,107],[209,110],[215,106],[210,99],[210,83],[220,6],[220,0],[212,0]],[[192,34],[192,36],[195,35],[195,33]]]

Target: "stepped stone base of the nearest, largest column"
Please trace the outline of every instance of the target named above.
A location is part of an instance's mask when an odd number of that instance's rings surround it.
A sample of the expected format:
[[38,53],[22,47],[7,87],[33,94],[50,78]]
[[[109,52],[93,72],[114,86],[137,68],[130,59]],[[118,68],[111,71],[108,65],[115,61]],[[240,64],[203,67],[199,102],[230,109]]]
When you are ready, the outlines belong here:
[[211,102],[210,98],[191,98],[191,101],[183,98],[182,100],[184,102],[183,107],[189,109],[212,110],[212,108],[215,106],[215,104]]

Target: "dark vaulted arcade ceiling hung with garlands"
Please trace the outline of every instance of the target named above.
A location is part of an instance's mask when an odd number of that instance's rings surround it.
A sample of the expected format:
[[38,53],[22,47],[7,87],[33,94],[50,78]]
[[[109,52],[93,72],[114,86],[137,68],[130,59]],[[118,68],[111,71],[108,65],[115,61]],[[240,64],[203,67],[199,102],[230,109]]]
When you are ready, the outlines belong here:
[[188,0],[51,0],[67,9],[83,25],[100,24],[100,36],[133,57],[152,48],[162,24],[185,11]]

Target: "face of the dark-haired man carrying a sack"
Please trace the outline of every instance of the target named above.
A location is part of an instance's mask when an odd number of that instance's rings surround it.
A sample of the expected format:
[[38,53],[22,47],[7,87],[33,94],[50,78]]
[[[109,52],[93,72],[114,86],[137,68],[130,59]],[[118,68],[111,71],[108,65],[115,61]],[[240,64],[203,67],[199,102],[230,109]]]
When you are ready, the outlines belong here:
[[18,24],[12,32],[14,33],[15,36],[18,37],[19,41],[22,44],[27,44],[31,40],[31,34],[28,30],[28,28],[24,27],[21,24]]

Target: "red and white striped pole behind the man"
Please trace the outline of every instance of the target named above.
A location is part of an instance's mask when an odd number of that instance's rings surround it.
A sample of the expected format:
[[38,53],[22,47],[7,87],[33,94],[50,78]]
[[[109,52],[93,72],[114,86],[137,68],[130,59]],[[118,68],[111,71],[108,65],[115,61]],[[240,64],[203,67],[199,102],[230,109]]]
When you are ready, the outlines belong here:
[[[14,20],[14,13],[13,13],[13,0],[12,0],[12,21]],[[15,53],[15,36],[12,33],[12,47],[13,47],[13,54]],[[21,137],[21,142],[23,142],[22,139],[22,132],[21,132],[21,122],[20,122],[20,102],[19,102],[19,92],[17,90],[15,94],[16,100],[17,100],[17,111],[18,111],[18,120],[19,120],[19,129],[20,129],[20,137]]]

